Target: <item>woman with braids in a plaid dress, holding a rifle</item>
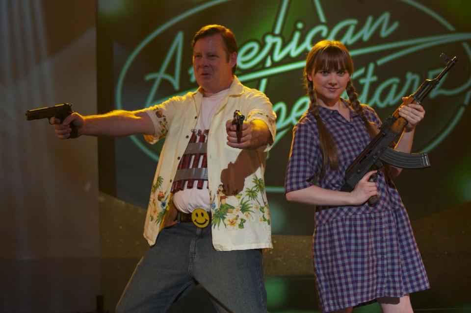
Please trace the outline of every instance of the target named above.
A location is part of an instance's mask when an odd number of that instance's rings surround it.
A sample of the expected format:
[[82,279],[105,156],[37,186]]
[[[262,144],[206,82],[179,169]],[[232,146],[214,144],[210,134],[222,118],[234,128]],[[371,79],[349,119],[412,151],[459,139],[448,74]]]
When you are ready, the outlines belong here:
[[[375,301],[385,313],[412,312],[409,293],[429,283],[390,179],[401,169],[370,171],[352,192],[339,191],[345,169],[381,125],[374,110],[358,101],[352,74],[352,58],[340,42],[320,41],[309,52],[304,78],[311,102],[293,129],[286,198],[316,206],[313,258],[322,312],[351,312]],[[345,90],[348,101],[340,97]],[[410,152],[425,111],[411,103],[399,114],[408,124],[395,149]],[[370,206],[373,195],[379,200]]]

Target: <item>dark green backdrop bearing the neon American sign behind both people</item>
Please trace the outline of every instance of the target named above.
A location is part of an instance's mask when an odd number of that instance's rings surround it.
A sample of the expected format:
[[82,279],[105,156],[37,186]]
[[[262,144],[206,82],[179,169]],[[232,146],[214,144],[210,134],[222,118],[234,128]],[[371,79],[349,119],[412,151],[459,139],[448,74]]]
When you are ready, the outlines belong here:
[[[313,208],[288,203],[283,185],[292,126],[308,106],[302,69],[311,46],[335,39],[349,48],[361,101],[383,120],[443,69],[442,52],[457,56],[423,101],[416,131],[413,152],[429,152],[431,168],[395,179],[411,218],[427,216],[471,199],[470,13],[460,0],[100,0],[99,110],[136,110],[195,90],[193,34],[205,24],[228,26],[239,45],[236,75],[264,91],[278,116],[265,176],[273,231],[310,234]],[[133,136],[102,146],[100,177],[110,178],[102,189],[146,208],[161,143]]]

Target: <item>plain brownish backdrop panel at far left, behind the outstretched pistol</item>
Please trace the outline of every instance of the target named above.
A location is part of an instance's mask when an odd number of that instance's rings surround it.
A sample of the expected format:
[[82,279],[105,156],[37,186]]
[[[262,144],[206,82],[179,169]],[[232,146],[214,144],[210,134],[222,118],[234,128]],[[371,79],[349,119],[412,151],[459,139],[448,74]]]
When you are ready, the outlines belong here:
[[25,111],[96,113],[96,2],[0,0],[0,312],[91,312],[101,293],[95,138]]

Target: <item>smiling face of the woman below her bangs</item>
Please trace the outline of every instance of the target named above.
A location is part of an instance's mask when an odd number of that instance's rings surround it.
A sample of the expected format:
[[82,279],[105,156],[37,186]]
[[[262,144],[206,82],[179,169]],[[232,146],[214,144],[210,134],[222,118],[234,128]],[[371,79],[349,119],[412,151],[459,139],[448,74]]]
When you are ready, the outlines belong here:
[[325,105],[333,105],[345,90],[350,74],[346,70],[319,70],[308,74],[308,79],[313,82],[317,99]]

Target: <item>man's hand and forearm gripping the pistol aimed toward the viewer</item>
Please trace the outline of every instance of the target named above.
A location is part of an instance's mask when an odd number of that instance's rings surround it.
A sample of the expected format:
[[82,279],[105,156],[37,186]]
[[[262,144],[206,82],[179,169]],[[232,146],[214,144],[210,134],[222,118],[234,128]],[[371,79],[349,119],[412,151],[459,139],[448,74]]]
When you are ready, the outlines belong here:
[[226,121],[227,145],[239,149],[257,149],[272,141],[268,126],[263,120],[244,120],[242,127],[237,132],[237,125],[232,120]]

